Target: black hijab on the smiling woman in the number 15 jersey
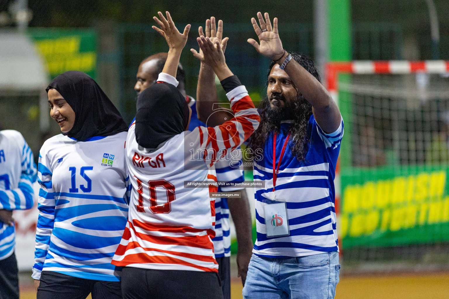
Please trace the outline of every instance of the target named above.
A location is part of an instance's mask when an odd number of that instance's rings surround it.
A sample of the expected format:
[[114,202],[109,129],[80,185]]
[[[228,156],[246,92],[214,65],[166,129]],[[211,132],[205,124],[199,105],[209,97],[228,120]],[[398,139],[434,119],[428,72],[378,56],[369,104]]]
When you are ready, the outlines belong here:
[[48,85],[56,89],[75,111],[75,123],[68,137],[84,141],[94,136],[110,136],[128,130],[119,110],[92,78],[79,71],[60,74]]

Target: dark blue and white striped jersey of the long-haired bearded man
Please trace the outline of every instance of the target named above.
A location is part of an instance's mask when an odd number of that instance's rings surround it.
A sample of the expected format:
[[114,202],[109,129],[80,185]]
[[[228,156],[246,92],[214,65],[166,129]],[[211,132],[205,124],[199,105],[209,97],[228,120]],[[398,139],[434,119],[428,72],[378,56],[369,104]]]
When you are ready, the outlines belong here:
[[[276,138],[276,165],[291,128],[282,122]],[[264,188],[255,189],[257,240],[253,252],[259,256],[309,256],[338,251],[335,217],[335,167],[343,137],[343,120],[339,128],[324,133],[313,115],[309,119],[311,136],[305,162],[292,155],[292,138],[279,167],[276,180],[276,202],[286,202],[290,235],[267,237],[264,199],[274,199],[273,192],[273,137],[270,133],[264,156],[254,165],[254,181],[264,181]],[[271,225],[271,224],[267,224]]]

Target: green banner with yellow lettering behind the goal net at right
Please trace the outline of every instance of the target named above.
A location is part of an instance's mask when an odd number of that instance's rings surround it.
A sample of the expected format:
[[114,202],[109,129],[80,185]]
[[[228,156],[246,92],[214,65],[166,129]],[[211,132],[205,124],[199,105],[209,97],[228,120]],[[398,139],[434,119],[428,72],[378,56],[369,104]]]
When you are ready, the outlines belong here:
[[342,247],[449,240],[449,168],[389,166],[342,170]]

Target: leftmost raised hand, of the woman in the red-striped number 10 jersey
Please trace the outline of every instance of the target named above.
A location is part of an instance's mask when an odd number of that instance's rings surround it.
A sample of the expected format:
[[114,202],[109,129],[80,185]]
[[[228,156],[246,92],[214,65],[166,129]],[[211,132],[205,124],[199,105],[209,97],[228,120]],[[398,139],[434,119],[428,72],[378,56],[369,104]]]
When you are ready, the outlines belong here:
[[156,26],[152,26],[152,28],[158,31],[158,33],[165,38],[170,50],[182,50],[185,43],[187,43],[187,35],[190,31],[190,24],[185,26],[184,33],[181,34],[176,28],[175,23],[173,23],[170,13],[167,11],[165,13],[167,15],[167,19],[160,11],[158,12],[160,20],[157,17],[153,17],[154,21],[156,21],[161,28],[159,29]]

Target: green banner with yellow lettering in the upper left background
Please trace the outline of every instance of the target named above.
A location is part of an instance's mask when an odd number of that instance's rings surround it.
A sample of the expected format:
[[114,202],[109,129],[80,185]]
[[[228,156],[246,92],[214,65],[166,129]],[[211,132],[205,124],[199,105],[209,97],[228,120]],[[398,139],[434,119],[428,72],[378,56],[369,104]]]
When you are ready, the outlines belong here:
[[30,28],[29,34],[44,57],[52,79],[68,70],[79,70],[96,79],[95,30]]

